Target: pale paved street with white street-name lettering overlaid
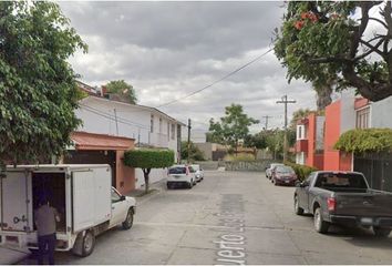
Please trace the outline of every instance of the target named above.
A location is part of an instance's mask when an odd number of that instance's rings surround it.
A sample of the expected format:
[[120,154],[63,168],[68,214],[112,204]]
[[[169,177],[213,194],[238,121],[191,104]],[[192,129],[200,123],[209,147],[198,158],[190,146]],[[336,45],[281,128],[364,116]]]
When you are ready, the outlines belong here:
[[311,216],[293,214],[292,193],[264,173],[206,172],[192,190],[144,198],[134,226],[97,237],[91,256],[58,253],[56,263],[392,264],[391,237],[341,227],[318,234]]

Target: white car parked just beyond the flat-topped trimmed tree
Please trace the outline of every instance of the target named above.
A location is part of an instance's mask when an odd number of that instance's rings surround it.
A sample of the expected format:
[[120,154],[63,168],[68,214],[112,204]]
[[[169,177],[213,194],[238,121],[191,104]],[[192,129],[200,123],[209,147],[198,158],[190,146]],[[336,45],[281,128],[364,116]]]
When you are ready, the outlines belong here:
[[167,188],[173,188],[176,185],[187,186],[192,188],[196,184],[195,175],[190,173],[188,165],[173,165],[167,171]]

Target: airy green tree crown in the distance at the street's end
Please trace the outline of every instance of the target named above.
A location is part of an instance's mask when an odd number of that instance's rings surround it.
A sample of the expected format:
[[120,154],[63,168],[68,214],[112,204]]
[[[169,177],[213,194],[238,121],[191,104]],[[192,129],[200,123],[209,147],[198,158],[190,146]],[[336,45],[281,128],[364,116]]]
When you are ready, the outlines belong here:
[[225,108],[226,116],[220,122],[209,120],[208,134],[210,139],[220,144],[229,144],[237,149],[238,141],[249,134],[249,126],[259,123],[258,120],[248,117],[240,104],[231,104]]

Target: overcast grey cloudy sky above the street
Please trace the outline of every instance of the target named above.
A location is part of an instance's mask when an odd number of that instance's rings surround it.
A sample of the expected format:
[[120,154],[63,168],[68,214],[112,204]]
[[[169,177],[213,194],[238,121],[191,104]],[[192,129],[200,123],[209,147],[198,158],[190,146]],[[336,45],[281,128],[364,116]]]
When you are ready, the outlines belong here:
[[[89,44],[89,53],[70,59],[82,81],[102,85],[125,80],[138,103],[159,106],[199,90],[248,63],[271,48],[280,25],[282,2],[60,2],[63,13]],[[274,52],[203,92],[161,108],[194,122],[194,134],[208,127],[210,117],[239,103],[260,120],[251,131],[283,125],[282,95],[299,108],[314,108],[309,84],[288,84]]]

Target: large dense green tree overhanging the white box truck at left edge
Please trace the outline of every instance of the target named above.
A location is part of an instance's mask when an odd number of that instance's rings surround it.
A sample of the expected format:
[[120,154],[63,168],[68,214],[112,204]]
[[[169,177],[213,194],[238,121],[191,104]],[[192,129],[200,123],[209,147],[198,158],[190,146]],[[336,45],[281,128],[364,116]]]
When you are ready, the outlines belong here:
[[66,62],[86,44],[58,4],[0,2],[0,164],[61,155],[80,120],[76,74]]

